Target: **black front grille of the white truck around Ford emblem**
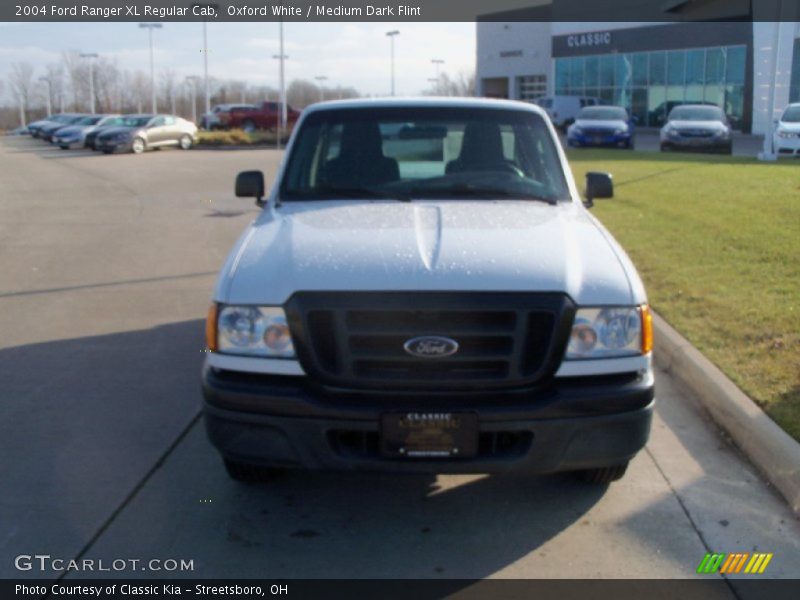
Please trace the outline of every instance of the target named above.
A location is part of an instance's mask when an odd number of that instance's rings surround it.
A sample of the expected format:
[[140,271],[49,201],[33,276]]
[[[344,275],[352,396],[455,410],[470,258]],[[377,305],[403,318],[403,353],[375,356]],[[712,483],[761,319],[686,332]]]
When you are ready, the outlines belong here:
[[[302,292],[286,305],[298,357],[322,383],[341,387],[522,387],[558,367],[574,306],[563,294]],[[418,357],[419,336],[458,343]]]

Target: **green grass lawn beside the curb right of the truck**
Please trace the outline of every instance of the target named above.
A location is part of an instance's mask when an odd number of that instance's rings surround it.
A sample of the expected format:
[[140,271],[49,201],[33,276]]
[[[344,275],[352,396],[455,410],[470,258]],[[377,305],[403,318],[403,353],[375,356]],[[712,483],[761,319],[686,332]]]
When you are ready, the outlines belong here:
[[[570,150],[651,305],[800,440],[800,162]],[[658,339],[656,338],[656,344]]]

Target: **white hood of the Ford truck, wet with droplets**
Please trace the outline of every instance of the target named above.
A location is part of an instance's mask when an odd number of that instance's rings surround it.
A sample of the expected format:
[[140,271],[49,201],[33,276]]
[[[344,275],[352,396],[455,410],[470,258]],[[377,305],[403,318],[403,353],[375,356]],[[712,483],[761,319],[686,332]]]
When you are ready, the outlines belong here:
[[267,209],[231,252],[215,299],[277,305],[310,290],[555,291],[583,305],[644,301],[624,252],[581,206],[509,200]]

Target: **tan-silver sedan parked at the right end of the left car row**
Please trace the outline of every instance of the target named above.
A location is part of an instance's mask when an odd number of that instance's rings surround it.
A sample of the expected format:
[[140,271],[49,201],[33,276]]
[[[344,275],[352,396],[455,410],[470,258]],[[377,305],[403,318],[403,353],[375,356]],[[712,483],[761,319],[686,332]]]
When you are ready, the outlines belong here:
[[174,115],[128,115],[122,125],[104,130],[95,149],[141,154],[150,148],[178,146],[188,150],[197,142],[197,125]]

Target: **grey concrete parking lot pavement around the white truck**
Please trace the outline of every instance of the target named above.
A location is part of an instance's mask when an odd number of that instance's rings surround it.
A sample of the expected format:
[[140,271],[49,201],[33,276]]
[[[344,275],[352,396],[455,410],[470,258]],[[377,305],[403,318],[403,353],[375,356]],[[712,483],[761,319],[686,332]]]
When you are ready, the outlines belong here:
[[270,181],[280,157],[0,140],[0,576],[60,575],[15,569],[34,553],[187,559],[169,575],[208,578],[685,578],[706,552],[759,551],[766,575],[800,573],[797,517],[663,372],[651,441],[608,487],[229,480],[198,419],[203,319],[257,212],[234,176]]

